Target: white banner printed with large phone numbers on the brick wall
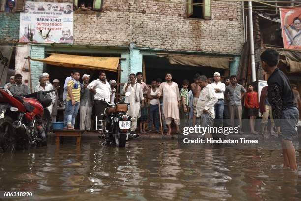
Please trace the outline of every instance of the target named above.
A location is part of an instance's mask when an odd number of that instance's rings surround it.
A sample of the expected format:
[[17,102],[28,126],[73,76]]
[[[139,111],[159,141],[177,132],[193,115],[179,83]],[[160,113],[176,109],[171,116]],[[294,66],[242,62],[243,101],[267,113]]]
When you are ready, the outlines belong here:
[[19,42],[73,44],[73,4],[26,1]]

